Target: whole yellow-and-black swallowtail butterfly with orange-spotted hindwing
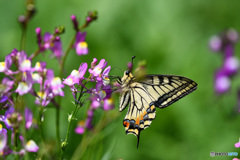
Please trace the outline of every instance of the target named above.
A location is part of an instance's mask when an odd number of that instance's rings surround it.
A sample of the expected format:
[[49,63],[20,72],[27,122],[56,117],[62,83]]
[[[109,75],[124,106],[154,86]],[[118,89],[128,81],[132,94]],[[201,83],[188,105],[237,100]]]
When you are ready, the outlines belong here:
[[138,137],[138,144],[140,132],[156,117],[156,107],[165,108],[197,88],[197,83],[186,77],[147,75],[136,78],[130,71],[125,71],[118,83],[121,85],[119,111],[129,105],[123,125],[126,134]]

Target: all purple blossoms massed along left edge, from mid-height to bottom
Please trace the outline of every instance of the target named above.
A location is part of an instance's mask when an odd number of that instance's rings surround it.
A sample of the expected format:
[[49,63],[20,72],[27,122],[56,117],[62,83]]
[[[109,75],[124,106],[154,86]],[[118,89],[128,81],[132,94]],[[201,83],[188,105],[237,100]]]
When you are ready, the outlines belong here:
[[[54,77],[52,70],[46,68],[45,62],[32,65],[27,54],[17,49],[8,54],[4,62],[0,62],[0,72],[4,74],[0,84],[0,109],[6,110],[4,115],[0,115],[0,121],[6,127],[5,129],[0,124],[0,153],[6,156],[8,154],[23,155],[26,151],[37,152],[36,143],[33,140],[25,142],[24,137],[19,133],[21,123],[25,122],[26,129],[32,126],[32,112],[27,107],[23,107],[25,111],[21,113],[20,104],[15,97],[30,94],[36,98],[36,104],[46,106],[55,96],[64,95],[62,91],[64,85],[59,77]],[[25,121],[23,121],[23,114]],[[21,150],[13,151],[7,145],[7,132],[12,134],[11,142],[14,138],[21,140]]]

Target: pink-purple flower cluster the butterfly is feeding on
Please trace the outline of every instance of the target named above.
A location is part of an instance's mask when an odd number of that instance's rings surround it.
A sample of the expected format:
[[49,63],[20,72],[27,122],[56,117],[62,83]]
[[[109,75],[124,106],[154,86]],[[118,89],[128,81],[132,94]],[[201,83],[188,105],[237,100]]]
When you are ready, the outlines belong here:
[[[75,132],[78,134],[84,133],[85,128],[91,129],[93,127],[92,120],[94,117],[94,110],[102,108],[107,111],[114,108],[113,100],[111,98],[112,90],[109,84],[108,76],[111,67],[107,67],[107,62],[104,59],[97,64],[97,59],[94,58],[91,63],[91,68],[88,69],[90,75],[88,78],[85,78],[84,76],[87,72],[87,68],[87,63],[81,64],[78,71],[73,70],[72,73],[63,81],[64,84],[70,87],[75,101],[78,102],[76,97],[78,92],[89,94],[89,99],[91,101],[90,107],[87,111],[86,120],[80,121],[75,129]],[[86,85],[89,82],[92,82],[94,87],[87,88]],[[77,85],[77,87],[75,85]],[[78,91],[79,88],[80,91]]]

